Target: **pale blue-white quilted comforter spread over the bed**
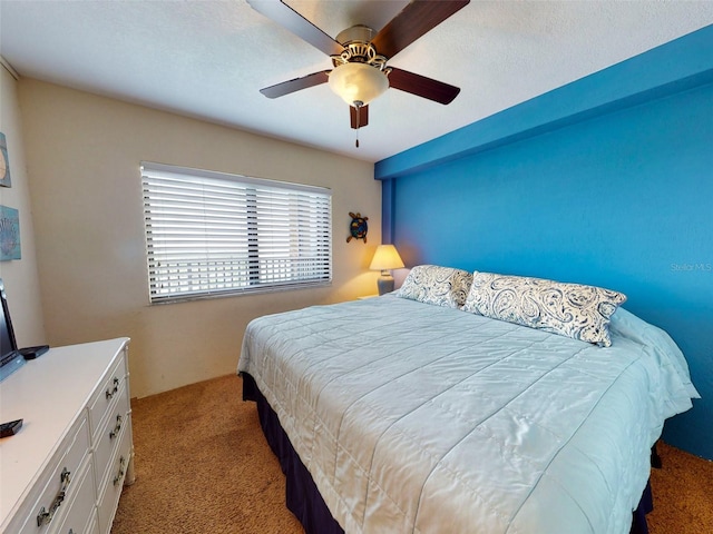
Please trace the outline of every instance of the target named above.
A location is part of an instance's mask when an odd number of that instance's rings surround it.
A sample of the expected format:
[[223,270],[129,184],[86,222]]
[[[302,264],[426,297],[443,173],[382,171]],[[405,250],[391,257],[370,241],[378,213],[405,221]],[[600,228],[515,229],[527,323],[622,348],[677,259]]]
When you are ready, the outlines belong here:
[[618,534],[697,393],[662,330],[612,340],[387,295],[255,319],[238,372],[346,533]]

